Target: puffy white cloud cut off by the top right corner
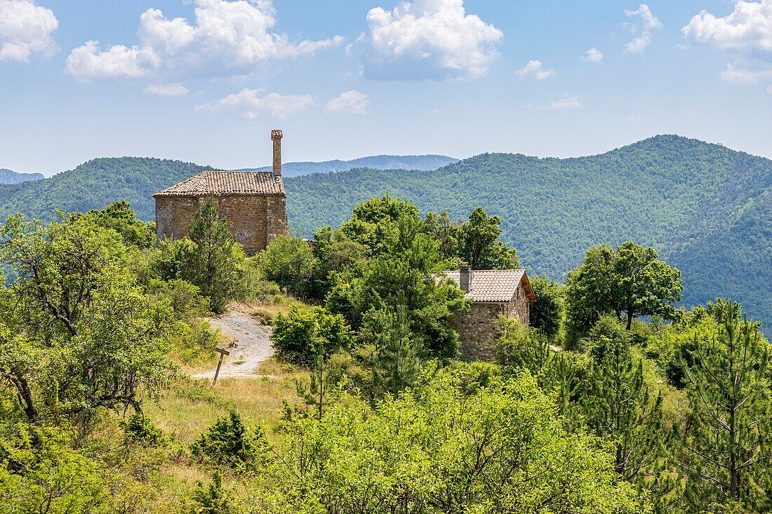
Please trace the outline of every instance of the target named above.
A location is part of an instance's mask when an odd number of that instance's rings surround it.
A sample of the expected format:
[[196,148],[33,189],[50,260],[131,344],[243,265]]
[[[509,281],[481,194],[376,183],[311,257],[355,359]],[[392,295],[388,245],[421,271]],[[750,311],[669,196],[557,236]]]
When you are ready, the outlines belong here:
[[681,32],[702,45],[772,58],[772,0],[740,0],[734,11],[723,18],[700,12]]

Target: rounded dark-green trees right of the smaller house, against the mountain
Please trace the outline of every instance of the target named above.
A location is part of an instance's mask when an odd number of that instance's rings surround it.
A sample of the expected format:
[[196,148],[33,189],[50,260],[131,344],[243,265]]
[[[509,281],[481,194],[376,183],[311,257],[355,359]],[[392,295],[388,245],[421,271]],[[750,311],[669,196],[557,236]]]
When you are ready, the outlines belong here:
[[681,272],[657,259],[654,249],[625,242],[615,250],[596,245],[584,263],[568,273],[567,321],[572,335],[587,333],[604,314],[627,321],[637,316],[672,319],[681,299]]

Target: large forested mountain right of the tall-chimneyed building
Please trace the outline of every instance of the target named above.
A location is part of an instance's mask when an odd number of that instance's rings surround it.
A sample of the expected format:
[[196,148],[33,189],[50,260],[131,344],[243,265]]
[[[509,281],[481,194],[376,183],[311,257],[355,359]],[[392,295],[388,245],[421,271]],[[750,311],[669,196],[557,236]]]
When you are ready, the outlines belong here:
[[687,304],[733,296],[772,320],[772,161],[677,136],[570,159],[482,154],[437,171],[354,170],[286,180],[290,225],[340,225],[391,193],[461,218],[482,205],[531,272],[563,279],[588,246],[653,245]]

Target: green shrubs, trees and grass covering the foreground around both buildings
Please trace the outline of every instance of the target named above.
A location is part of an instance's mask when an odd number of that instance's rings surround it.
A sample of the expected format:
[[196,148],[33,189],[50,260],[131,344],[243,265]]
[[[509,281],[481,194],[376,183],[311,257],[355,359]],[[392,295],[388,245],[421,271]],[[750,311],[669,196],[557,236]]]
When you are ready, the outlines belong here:
[[[767,512],[772,371],[737,303],[677,307],[626,242],[530,326],[459,360],[460,263],[518,265],[501,220],[387,196],[248,258],[206,201],[154,238],[123,202],[0,231],[0,512]],[[273,324],[261,376],[188,377],[231,301]]]

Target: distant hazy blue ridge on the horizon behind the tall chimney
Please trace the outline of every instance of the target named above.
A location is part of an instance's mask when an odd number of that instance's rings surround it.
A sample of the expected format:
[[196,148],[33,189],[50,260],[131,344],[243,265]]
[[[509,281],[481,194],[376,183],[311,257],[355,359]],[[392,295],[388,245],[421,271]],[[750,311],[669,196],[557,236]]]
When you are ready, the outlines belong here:
[[[370,167],[375,170],[436,170],[438,167],[459,162],[458,159],[446,155],[373,155],[360,157],[352,161],[324,162],[288,162],[282,164],[282,174],[285,177],[300,177],[312,173],[329,173],[330,171],[349,171],[359,167]],[[270,171],[270,166],[245,168],[238,171]]]

